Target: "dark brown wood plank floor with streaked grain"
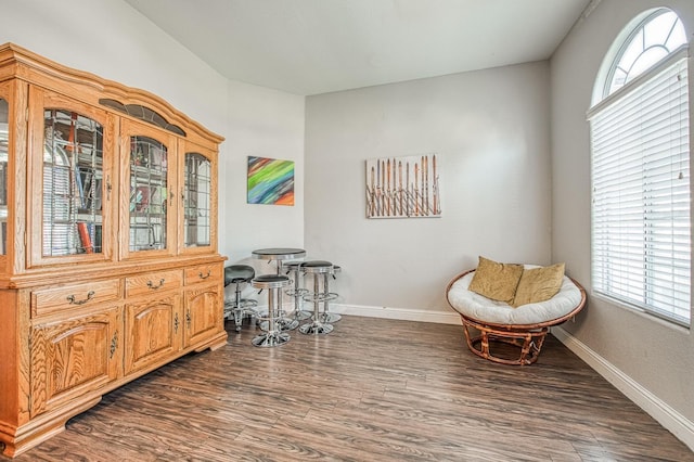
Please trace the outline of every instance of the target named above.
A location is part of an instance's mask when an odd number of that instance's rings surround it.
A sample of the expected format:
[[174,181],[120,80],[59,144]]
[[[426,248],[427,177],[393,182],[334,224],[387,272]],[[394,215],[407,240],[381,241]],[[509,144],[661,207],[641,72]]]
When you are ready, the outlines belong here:
[[555,338],[496,364],[462,328],[345,317],[278,348],[236,334],[105,396],[16,461],[694,461]]

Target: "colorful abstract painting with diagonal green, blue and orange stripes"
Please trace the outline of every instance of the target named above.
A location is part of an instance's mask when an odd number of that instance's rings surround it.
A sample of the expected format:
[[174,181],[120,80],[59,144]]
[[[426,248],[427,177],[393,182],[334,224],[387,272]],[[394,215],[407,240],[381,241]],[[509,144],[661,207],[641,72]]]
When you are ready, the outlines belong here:
[[248,156],[248,204],[294,205],[294,162]]

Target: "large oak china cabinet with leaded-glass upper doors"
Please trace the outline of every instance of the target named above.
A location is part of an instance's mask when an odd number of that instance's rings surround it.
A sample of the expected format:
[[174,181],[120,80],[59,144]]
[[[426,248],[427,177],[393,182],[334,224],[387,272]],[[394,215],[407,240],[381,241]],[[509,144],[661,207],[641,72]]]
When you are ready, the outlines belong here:
[[222,138],[142,90],[0,46],[0,441],[226,344]]

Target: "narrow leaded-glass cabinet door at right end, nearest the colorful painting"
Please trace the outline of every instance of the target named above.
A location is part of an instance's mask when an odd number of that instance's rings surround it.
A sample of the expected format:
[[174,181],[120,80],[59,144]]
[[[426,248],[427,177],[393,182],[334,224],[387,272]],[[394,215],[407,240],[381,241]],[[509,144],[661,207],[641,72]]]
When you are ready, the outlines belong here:
[[216,251],[216,154],[188,143],[180,180],[182,204],[181,253]]

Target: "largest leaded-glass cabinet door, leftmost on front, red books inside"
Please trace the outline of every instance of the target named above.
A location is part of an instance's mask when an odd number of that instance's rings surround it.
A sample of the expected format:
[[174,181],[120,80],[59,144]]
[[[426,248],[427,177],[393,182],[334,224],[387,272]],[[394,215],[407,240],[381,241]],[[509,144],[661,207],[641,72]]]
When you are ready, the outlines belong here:
[[[112,180],[108,165],[113,130],[105,112],[60,97],[31,92],[35,106],[33,170],[29,191],[40,191],[33,207],[33,264],[68,262],[79,259],[110,259],[112,226],[110,201]],[[37,103],[38,105],[38,103]],[[40,121],[39,121],[40,117]],[[39,142],[40,139],[40,142]],[[107,141],[106,141],[107,140]],[[106,145],[108,143],[108,145]],[[34,233],[31,233],[34,234]]]

